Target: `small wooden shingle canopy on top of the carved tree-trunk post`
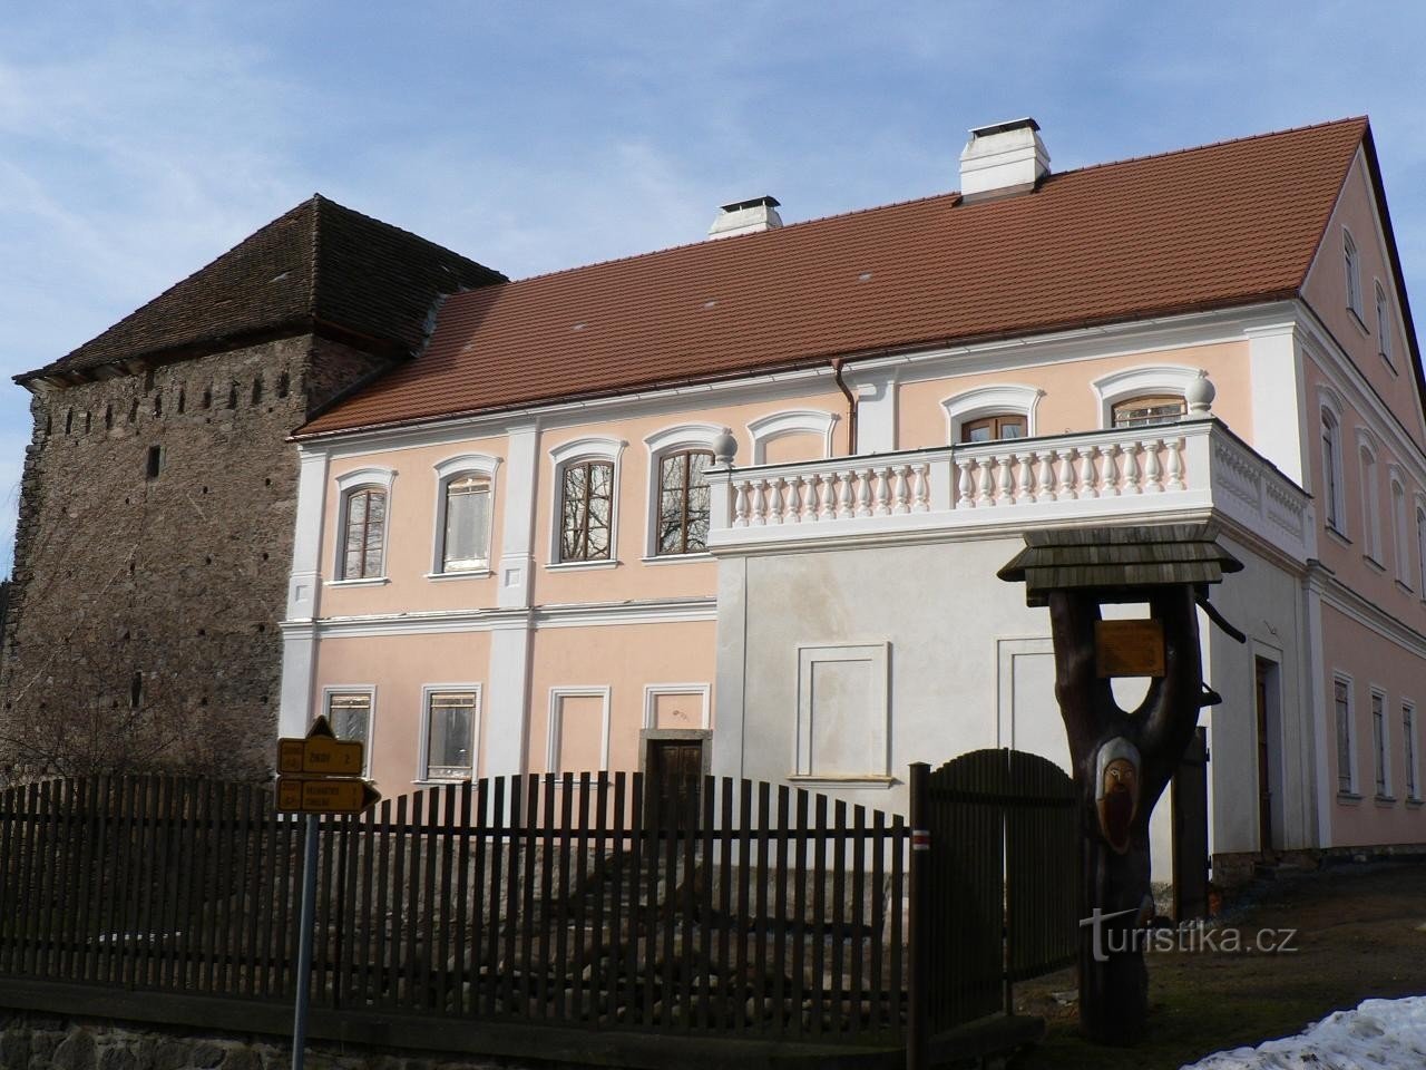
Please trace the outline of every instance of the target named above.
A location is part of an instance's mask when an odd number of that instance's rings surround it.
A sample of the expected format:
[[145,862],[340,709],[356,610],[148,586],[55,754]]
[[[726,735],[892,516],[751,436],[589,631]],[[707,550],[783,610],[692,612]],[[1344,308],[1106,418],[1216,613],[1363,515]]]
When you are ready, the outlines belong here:
[[1242,562],[1218,545],[1216,524],[1065,528],[1025,534],[1025,548],[997,575],[1025,585],[1025,603],[1051,591],[1092,588],[1102,602],[1142,602],[1147,588],[1221,584]]

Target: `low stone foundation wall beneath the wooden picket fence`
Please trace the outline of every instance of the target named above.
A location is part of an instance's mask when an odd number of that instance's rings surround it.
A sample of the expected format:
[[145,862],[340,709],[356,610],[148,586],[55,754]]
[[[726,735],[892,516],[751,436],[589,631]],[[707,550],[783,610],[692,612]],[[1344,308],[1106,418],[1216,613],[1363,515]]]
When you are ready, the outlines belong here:
[[[0,1010],[0,1070],[289,1070],[291,1044],[268,1036],[214,1034],[101,1019]],[[528,1070],[472,1056],[404,1054],[312,1043],[309,1070]]]

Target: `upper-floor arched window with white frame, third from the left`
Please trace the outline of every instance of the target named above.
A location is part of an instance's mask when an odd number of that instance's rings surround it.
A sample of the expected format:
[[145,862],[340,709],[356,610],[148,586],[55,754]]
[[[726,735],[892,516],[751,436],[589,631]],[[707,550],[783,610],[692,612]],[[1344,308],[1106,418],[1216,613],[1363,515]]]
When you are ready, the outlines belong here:
[[623,442],[583,438],[550,451],[559,501],[555,564],[613,562],[619,521],[619,455]]

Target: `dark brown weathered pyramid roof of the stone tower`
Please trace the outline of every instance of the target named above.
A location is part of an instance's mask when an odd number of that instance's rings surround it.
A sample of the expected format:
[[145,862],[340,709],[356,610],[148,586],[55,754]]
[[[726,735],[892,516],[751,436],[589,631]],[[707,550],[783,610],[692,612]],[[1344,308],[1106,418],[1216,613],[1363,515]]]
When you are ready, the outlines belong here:
[[134,360],[181,360],[317,332],[389,355],[425,341],[442,294],[505,277],[314,194],[73,352],[17,375],[91,378]]

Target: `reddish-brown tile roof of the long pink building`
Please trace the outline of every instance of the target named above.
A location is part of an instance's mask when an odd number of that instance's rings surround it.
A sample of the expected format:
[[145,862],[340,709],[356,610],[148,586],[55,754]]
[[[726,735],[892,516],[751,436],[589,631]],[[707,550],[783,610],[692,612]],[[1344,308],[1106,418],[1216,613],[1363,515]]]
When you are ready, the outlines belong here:
[[1340,120],[456,294],[416,360],[298,434],[1291,297],[1366,131]]

